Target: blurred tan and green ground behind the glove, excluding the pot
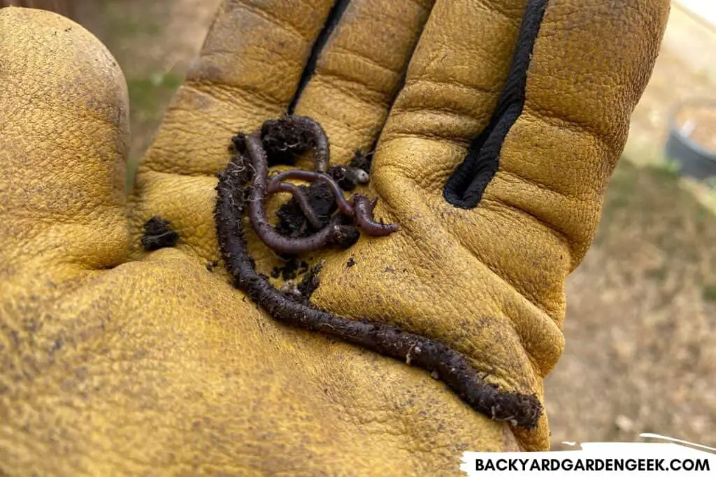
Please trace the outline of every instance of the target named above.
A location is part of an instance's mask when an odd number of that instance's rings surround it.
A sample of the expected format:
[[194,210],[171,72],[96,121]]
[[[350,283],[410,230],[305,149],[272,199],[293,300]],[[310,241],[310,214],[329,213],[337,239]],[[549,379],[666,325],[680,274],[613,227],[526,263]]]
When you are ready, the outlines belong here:
[[[130,92],[132,177],[218,1],[5,4],[59,11],[115,54]],[[669,114],[685,99],[716,101],[714,1],[672,0],[594,246],[569,277],[566,352],[546,383],[556,449],[562,441],[638,441],[643,432],[716,446],[715,181],[683,177],[664,154]],[[679,134],[715,153],[716,114],[684,114],[674,119]]]

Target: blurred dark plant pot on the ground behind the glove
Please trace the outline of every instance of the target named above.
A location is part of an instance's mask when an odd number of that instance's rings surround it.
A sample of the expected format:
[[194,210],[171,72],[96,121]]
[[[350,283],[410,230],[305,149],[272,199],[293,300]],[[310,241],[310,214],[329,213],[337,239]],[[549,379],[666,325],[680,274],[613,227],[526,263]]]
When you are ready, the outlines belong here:
[[[716,150],[710,150],[688,137],[676,122],[676,117],[684,107],[697,106],[716,109],[713,101],[688,101],[677,104],[669,115],[669,138],[664,147],[667,157],[679,164],[682,175],[706,180],[716,177]],[[716,135],[716,128],[713,131]]]

